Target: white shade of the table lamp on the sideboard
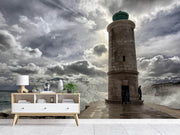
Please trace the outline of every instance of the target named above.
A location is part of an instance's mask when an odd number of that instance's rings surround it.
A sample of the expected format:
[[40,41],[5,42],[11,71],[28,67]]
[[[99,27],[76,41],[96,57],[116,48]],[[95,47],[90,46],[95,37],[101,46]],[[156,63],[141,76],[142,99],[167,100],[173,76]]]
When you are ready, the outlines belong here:
[[29,76],[18,75],[16,78],[16,85],[29,85]]

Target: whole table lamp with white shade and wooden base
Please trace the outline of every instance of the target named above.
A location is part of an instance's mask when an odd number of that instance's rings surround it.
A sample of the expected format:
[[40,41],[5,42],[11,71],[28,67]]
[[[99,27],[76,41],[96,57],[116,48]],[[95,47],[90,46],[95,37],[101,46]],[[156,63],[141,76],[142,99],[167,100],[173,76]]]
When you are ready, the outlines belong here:
[[20,85],[21,88],[18,90],[18,93],[27,93],[28,90],[25,88],[25,85],[29,85],[29,76],[28,75],[18,75],[16,78],[16,85]]

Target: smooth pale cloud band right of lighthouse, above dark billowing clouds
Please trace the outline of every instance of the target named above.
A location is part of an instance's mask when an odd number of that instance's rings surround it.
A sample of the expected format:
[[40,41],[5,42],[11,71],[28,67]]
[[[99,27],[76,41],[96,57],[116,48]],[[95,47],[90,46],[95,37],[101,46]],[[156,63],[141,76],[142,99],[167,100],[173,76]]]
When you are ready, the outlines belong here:
[[166,36],[153,37],[137,46],[138,57],[152,57],[165,55],[168,57],[179,56],[180,32]]

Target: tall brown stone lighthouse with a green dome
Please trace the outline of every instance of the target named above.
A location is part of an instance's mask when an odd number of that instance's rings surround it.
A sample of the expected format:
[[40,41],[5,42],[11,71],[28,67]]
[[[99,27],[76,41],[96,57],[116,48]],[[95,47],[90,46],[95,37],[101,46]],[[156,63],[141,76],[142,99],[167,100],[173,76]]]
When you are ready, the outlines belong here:
[[119,11],[108,25],[108,100],[107,102],[142,103],[138,96],[138,72],[134,40],[134,22]]

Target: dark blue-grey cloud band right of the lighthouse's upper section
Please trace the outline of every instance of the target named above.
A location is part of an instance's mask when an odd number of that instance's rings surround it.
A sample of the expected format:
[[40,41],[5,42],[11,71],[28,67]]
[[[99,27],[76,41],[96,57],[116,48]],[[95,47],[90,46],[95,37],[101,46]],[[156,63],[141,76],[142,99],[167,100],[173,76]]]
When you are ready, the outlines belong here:
[[178,33],[180,30],[179,7],[180,5],[168,12],[161,11],[152,20],[149,18],[143,20],[141,27],[136,32],[137,45],[142,45],[154,37],[163,37]]

